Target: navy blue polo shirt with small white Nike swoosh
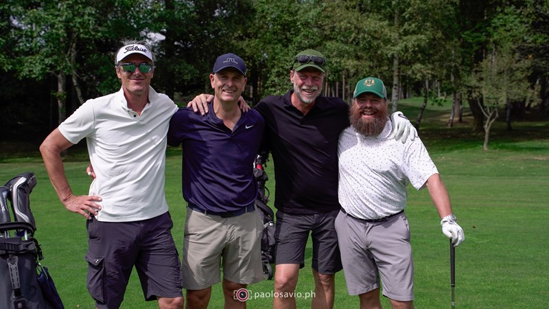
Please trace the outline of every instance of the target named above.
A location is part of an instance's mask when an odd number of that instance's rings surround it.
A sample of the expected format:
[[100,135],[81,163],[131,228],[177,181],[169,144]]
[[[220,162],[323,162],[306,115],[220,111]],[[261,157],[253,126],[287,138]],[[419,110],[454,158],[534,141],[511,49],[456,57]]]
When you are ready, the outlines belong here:
[[183,144],[183,198],[215,212],[235,211],[254,203],[257,183],[253,162],[264,132],[257,111],[242,113],[231,131],[213,113],[202,116],[180,108],[170,121],[167,143]]

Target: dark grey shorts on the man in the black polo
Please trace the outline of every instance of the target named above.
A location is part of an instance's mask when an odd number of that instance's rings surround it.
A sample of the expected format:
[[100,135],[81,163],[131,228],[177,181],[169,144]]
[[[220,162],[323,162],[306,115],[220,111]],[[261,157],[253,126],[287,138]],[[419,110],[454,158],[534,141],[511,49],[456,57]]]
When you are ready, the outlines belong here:
[[288,214],[277,211],[274,231],[276,264],[305,266],[305,247],[311,233],[313,244],[312,268],[323,275],[341,270],[338,236],[334,221],[339,210],[318,214]]

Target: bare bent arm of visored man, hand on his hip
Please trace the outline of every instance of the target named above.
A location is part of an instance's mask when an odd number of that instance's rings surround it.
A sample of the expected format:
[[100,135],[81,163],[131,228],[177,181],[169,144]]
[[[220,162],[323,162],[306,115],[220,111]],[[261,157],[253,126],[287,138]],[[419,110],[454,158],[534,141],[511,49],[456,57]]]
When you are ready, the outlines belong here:
[[40,145],[40,153],[44,160],[49,180],[59,196],[59,199],[67,210],[76,214],[81,214],[86,219],[90,219],[90,213],[97,215],[97,210],[101,209],[94,201],[101,201],[99,196],[75,196],[65,176],[65,167],[61,160],[61,152],[70,146],[70,141],[56,128],[51,132]]

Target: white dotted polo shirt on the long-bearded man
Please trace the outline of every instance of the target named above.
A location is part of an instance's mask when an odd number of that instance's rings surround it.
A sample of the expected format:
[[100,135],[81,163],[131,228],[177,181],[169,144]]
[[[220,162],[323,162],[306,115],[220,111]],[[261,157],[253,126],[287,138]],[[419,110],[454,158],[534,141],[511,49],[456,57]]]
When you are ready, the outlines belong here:
[[438,174],[421,139],[395,140],[390,121],[377,137],[366,137],[349,126],[340,135],[339,202],[355,218],[377,219],[406,207],[408,183],[420,190]]

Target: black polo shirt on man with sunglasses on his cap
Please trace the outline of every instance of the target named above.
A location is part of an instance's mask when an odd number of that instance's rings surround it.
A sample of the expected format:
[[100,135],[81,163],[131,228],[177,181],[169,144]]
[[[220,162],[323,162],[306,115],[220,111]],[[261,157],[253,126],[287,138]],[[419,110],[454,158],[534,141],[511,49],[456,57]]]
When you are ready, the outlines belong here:
[[338,139],[349,126],[349,105],[320,95],[303,115],[292,93],[269,96],[254,108],[265,119],[264,143],[272,153],[274,206],[293,214],[339,209]]

